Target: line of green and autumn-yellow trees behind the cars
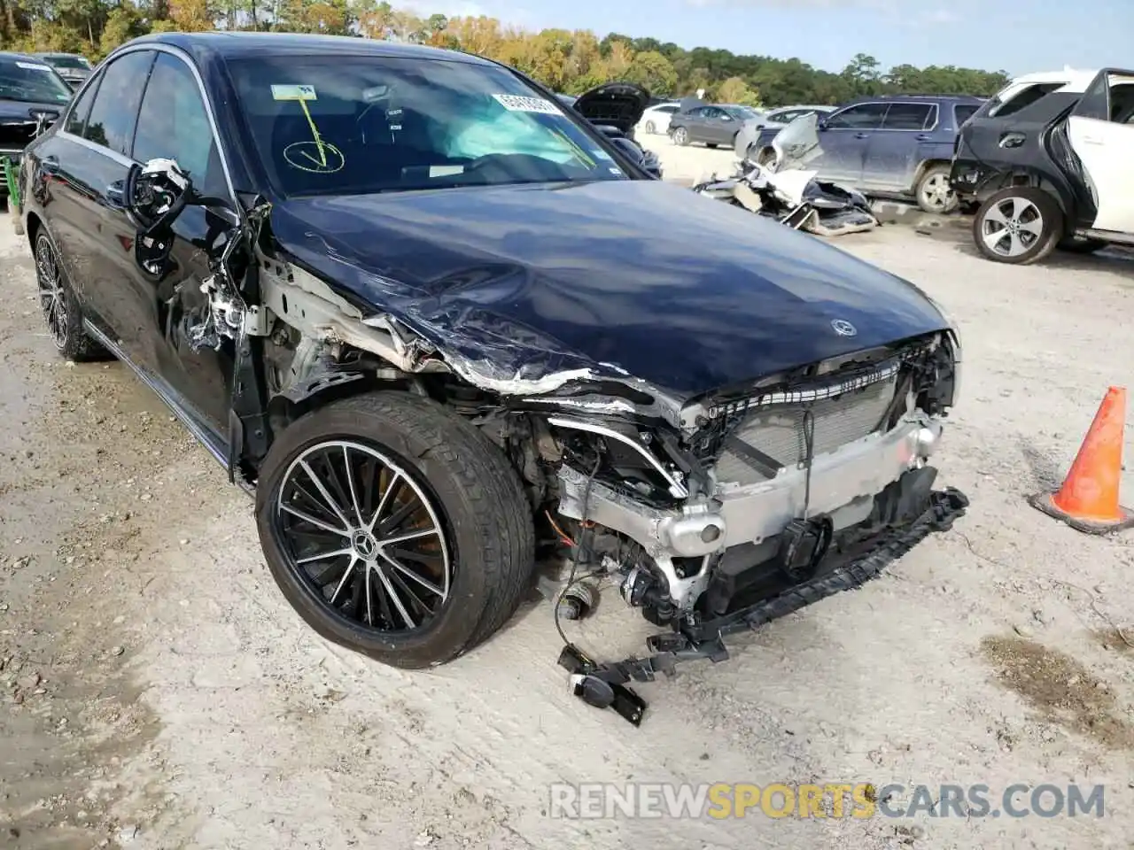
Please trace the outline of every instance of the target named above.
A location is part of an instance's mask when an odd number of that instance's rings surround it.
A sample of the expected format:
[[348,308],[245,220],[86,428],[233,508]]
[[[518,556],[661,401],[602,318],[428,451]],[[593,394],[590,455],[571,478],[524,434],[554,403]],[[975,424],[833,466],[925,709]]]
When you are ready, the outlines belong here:
[[433,44],[503,61],[559,92],[628,79],[658,96],[704,90],[729,103],[839,103],[873,94],[995,93],[1004,71],[954,66],[883,69],[860,53],[839,73],[799,59],[685,50],[655,39],[585,29],[525,31],[489,17],[420,16],[375,0],[0,0],[0,49],[83,53],[98,60],[152,32],[257,29]]

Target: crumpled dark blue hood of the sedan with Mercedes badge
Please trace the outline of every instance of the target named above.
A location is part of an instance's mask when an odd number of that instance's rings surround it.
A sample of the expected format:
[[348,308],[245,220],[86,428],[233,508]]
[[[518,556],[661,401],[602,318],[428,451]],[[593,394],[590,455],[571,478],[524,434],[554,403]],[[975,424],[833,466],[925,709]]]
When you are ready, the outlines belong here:
[[654,180],[289,199],[271,227],[474,374],[531,382],[516,392],[590,371],[680,401],[947,326],[913,284]]

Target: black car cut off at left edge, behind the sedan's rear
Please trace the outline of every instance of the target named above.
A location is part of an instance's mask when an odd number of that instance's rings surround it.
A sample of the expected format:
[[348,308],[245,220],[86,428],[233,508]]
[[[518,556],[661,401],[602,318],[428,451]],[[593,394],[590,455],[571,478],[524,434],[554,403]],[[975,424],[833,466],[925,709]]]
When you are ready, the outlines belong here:
[[[40,59],[0,52],[0,160],[18,162],[36,134],[54,121],[71,90]],[[0,197],[8,184],[0,179]]]

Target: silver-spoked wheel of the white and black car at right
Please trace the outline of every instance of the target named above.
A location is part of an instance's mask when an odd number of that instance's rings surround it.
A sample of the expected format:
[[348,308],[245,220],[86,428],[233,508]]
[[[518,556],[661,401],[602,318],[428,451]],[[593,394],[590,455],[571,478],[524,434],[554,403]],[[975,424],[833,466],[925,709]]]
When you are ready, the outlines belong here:
[[1050,254],[1063,236],[1059,205],[1043,189],[1009,186],[981,204],[973,241],[989,260],[1026,265]]

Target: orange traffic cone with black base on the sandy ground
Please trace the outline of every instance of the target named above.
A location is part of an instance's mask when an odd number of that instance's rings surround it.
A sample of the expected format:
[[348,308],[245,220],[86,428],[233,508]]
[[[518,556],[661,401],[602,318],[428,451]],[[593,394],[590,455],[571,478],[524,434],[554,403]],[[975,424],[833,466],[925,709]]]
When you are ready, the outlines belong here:
[[1089,534],[1134,526],[1134,512],[1118,504],[1125,424],[1126,388],[1111,386],[1063,486],[1056,493],[1032,496],[1032,507]]

